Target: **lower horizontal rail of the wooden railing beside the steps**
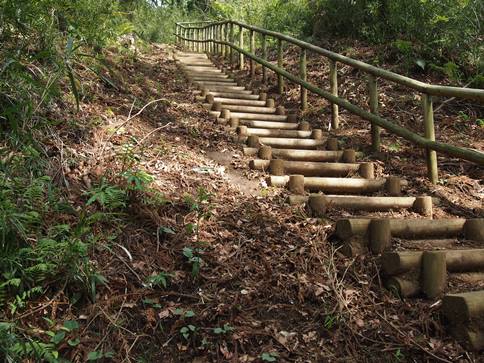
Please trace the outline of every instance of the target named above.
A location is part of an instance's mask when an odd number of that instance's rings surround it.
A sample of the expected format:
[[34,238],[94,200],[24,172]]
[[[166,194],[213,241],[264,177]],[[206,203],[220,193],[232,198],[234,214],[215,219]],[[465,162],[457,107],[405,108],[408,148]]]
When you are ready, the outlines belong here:
[[468,148],[460,148],[460,147],[457,147],[457,146],[453,146],[453,145],[449,145],[449,144],[445,144],[445,143],[441,143],[441,142],[437,142],[437,141],[430,141],[423,136],[420,136],[420,135],[418,135],[418,134],[416,134],[416,133],[414,133],[410,130],[407,130],[406,128],[404,128],[400,125],[397,125],[397,124],[395,124],[391,121],[384,119],[381,116],[378,116],[378,115],[372,114],[368,111],[365,111],[365,110],[359,108],[358,106],[352,104],[351,102],[349,102],[346,99],[334,96],[329,92],[326,92],[326,91],[324,91],[324,90],[322,90],[322,89],[320,89],[320,88],[318,88],[318,87],[316,87],[316,86],[314,86],[314,85],[312,85],[308,82],[305,82],[302,79],[300,79],[299,77],[294,76],[291,73],[287,72],[286,70],[279,68],[279,67],[275,66],[274,64],[272,64],[272,63],[270,63],[270,62],[268,62],[268,61],[266,61],[266,60],[264,60],[260,57],[257,57],[256,55],[253,55],[250,52],[248,52],[248,51],[246,51],[242,48],[239,48],[238,46],[236,46],[232,43],[229,43],[229,42],[226,42],[226,41],[214,40],[214,39],[194,40],[194,39],[184,38],[182,36],[179,36],[179,38],[181,38],[183,40],[187,40],[187,41],[194,41],[194,42],[201,42],[201,43],[214,42],[214,43],[218,43],[218,44],[228,45],[229,47],[233,48],[237,52],[243,53],[245,56],[249,57],[250,59],[255,60],[257,63],[271,69],[272,71],[276,72],[277,74],[281,74],[286,79],[288,79],[288,80],[290,80],[290,81],[292,81],[292,82],[294,82],[298,85],[303,86],[308,91],[311,91],[311,92],[313,92],[317,95],[320,95],[320,96],[326,98],[330,102],[335,103],[335,104],[343,107],[344,109],[352,112],[355,115],[362,117],[363,119],[365,119],[367,121],[373,122],[376,125],[383,127],[384,129],[394,133],[395,135],[398,135],[398,136],[400,136],[400,137],[402,137],[402,138],[404,138],[408,141],[411,141],[411,142],[413,142],[413,143],[415,143],[415,144],[417,144],[417,145],[419,145],[423,148],[435,150],[435,151],[438,151],[440,153],[446,154],[448,156],[457,157],[457,158],[460,158],[460,159],[463,159],[463,160],[472,161],[472,162],[477,163],[479,165],[484,165],[484,153],[482,153],[482,152],[472,150],[472,149],[468,149]]

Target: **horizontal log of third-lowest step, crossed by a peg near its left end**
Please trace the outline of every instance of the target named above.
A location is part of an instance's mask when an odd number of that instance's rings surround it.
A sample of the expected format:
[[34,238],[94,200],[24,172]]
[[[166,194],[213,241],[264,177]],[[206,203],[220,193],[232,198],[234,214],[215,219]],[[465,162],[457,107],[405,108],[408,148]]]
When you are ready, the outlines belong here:
[[[388,219],[392,237],[402,239],[450,238],[463,235],[472,241],[484,241],[479,234],[484,219]],[[353,236],[367,237],[372,219],[341,219],[336,222],[340,239]]]

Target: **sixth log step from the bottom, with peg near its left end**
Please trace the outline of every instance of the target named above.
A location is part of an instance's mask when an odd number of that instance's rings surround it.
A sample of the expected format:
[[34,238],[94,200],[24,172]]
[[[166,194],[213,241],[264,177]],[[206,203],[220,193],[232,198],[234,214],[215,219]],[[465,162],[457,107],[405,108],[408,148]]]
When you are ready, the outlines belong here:
[[299,174],[304,176],[346,177],[360,171],[361,164],[321,163],[316,161],[287,161],[282,159],[251,160],[251,169],[268,170],[271,175],[283,176]]

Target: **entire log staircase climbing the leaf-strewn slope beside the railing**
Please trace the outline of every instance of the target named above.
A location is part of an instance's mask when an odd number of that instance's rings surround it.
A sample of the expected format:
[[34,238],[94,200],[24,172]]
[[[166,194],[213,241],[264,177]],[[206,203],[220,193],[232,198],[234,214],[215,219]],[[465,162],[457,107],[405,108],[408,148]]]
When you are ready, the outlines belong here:
[[[333,240],[348,256],[381,256],[386,287],[402,298],[442,297],[450,332],[469,349],[484,349],[484,219],[432,219],[432,198],[408,195],[407,182],[375,178],[337,139],[287,114],[266,93],[255,94],[218,69],[204,53],[177,52],[180,69],[196,86],[196,101],[217,123],[245,143],[249,167],[266,171],[268,185],[287,188],[291,204],[306,204],[315,217],[351,211],[337,221]],[[409,209],[418,219],[359,218],[358,212]],[[446,293],[466,284],[472,291]],[[449,288],[450,286],[450,288]]]

